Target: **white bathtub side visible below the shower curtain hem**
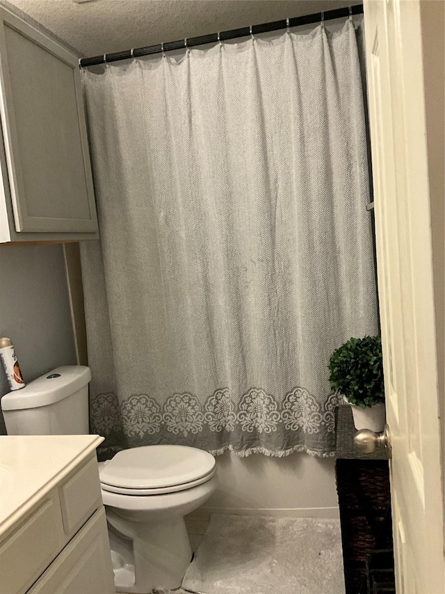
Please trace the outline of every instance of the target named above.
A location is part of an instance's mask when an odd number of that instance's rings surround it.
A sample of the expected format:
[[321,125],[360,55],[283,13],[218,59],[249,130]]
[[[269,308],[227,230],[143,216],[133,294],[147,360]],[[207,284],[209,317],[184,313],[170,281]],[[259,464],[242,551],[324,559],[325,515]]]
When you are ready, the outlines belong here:
[[219,486],[202,513],[337,517],[334,458],[218,456]]

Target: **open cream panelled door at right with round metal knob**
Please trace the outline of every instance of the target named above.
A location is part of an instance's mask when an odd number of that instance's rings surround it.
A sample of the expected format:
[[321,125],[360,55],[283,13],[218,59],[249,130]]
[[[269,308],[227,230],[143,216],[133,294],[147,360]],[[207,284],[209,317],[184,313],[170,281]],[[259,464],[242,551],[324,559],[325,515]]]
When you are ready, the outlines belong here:
[[[443,27],[442,2],[364,2],[398,594],[445,592],[439,426],[444,393],[438,375],[443,328],[437,318],[443,303],[436,265],[443,265],[444,247],[443,235],[439,241],[431,231],[432,213],[443,201],[431,159],[442,150],[443,167],[443,136],[437,146],[429,142],[434,140],[426,114],[431,81],[423,63],[428,41],[436,43],[440,65],[443,39],[428,39],[433,32],[426,28],[435,21],[428,11],[437,10]],[[432,84],[443,89],[443,72]],[[439,102],[440,97],[439,91]]]

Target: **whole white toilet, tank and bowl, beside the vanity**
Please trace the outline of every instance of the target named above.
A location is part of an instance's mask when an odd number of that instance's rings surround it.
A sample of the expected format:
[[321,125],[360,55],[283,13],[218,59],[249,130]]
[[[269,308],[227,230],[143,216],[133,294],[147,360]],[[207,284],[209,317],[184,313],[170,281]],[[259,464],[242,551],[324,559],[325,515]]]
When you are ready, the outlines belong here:
[[[88,433],[85,366],[58,367],[1,398],[8,435]],[[99,462],[118,592],[179,588],[192,550],[184,515],[216,489],[216,462],[187,446],[140,446]]]

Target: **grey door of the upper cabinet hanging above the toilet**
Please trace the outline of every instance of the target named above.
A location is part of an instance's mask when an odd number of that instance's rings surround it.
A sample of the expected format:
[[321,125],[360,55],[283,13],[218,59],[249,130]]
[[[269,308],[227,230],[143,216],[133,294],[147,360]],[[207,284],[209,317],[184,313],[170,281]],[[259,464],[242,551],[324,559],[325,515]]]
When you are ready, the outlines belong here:
[[0,8],[0,114],[15,228],[97,230],[79,63]]

